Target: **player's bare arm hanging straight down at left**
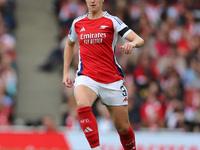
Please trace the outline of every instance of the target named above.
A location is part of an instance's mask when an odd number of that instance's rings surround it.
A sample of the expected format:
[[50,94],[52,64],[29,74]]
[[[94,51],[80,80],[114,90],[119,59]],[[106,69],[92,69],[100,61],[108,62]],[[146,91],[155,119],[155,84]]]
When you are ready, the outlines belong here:
[[73,81],[71,80],[69,75],[69,67],[73,57],[74,45],[75,42],[72,42],[68,38],[64,49],[64,65],[63,65],[63,84],[67,87],[73,86]]

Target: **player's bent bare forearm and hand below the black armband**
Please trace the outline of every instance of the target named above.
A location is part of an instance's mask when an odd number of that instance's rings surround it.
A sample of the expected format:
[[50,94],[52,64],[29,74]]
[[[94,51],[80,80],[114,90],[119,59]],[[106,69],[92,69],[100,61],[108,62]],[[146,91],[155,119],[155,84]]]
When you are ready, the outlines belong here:
[[124,43],[120,48],[125,54],[131,54],[133,48],[138,48],[144,45],[144,40],[138,36],[134,31],[131,30],[131,32],[125,37],[126,40],[130,41],[127,43]]

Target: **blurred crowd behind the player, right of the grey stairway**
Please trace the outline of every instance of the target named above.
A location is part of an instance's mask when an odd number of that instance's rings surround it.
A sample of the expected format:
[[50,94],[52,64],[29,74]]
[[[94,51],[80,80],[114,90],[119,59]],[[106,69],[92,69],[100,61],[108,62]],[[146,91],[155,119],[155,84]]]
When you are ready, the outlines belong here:
[[[55,0],[59,46],[41,66],[53,71],[62,66],[62,53],[72,21],[87,12],[84,0]],[[105,0],[104,9],[118,16],[140,35],[145,45],[116,57],[125,74],[129,116],[135,130],[182,130],[200,132],[200,1],[199,0]],[[76,45],[70,73],[75,78]],[[63,125],[78,126],[73,89],[63,87]],[[93,108],[99,128],[113,129],[105,106]]]

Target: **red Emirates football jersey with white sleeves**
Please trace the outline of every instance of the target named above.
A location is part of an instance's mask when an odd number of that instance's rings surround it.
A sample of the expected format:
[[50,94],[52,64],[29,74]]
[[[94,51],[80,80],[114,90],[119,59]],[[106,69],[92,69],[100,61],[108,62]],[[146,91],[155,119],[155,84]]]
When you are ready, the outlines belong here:
[[115,46],[118,34],[125,38],[131,30],[118,17],[107,12],[101,18],[89,19],[88,14],[76,18],[69,32],[72,42],[79,40],[77,75],[86,75],[100,83],[123,78],[116,61]]

